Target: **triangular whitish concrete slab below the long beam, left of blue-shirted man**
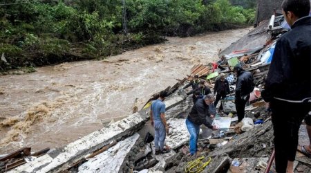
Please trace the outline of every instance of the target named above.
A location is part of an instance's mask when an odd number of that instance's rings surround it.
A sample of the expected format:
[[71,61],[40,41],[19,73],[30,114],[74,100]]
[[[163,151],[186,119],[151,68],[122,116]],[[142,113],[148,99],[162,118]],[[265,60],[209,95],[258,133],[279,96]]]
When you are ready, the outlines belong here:
[[139,134],[134,134],[120,141],[102,154],[91,158],[86,163],[79,166],[79,172],[105,172],[107,170],[119,172],[126,154],[131,150],[138,138]]

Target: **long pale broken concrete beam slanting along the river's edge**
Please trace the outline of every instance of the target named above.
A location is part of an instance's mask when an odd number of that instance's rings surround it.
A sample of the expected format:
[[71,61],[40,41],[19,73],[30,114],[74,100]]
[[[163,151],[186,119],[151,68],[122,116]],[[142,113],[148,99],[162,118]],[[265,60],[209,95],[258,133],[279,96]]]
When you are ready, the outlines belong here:
[[66,170],[71,164],[104,147],[111,140],[121,140],[124,136],[130,136],[142,127],[147,119],[148,116],[143,112],[142,114],[134,113],[124,120],[94,131],[92,134],[66,145],[63,149],[55,149],[53,152],[36,158],[34,161],[21,165],[10,172],[57,172]]

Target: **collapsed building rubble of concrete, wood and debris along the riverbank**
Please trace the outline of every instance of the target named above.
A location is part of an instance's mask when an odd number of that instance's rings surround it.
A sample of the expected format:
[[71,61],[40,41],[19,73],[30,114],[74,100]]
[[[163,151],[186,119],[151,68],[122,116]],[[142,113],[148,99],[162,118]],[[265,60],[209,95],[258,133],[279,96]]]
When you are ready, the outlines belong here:
[[[0,158],[0,172],[265,172],[272,159],[273,129],[270,112],[265,107],[260,90],[272,60],[277,39],[288,29],[283,17],[274,16],[261,22],[245,37],[220,53],[218,63],[196,65],[191,74],[174,86],[165,89],[169,97],[164,101],[169,135],[165,143],[171,148],[166,154],[155,155],[148,133],[153,134],[149,122],[149,105],[157,93],[138,112],[107,124],[88,136],[79,138],[65,147],[44,149],[31,153],[30,148],[19,149]],[[256,89],[251,93],[245,117],[249,128],[236,124],[234,81],[231,94],[221,102],[224,112],[218,113],[214,123],[218,131],[202,127],[198,141],[198,158],[187,156],[189,132],[185,118],[193,105],[191,96],[180,90],[194,74],[214,87],[219,73],[232,77],[232,66],[241,63],[254,74]],[[305,127],[301,126],[299,143],[307,144]],[[295,172],[310,172],[311,160],[297,152]],[[274,171],[274,166],[270,169]]]

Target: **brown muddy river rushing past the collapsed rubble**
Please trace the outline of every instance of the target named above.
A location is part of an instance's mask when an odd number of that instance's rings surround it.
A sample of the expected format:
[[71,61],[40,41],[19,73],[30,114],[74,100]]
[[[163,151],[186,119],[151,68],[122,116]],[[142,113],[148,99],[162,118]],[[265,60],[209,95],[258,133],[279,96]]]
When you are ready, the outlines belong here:
[[250,28],[168,37],[107,60],[45,66],[37,72],[0,76],[0,154],[62,147],[131,114],[153,93],[185,78],[194,64],[218,59]]

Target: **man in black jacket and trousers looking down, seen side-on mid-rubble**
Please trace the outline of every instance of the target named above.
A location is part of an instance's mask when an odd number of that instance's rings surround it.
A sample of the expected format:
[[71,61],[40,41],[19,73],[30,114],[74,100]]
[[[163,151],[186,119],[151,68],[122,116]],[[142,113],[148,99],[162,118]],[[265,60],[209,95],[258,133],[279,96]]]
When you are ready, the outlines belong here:
[[243,70],[241,64],[234,66],[234,73],[238,76],[236,80],[236,112],[238,122],[244,118],[245,104],[249,100],[249,93],[254,90],[253,75],[249,71]]

